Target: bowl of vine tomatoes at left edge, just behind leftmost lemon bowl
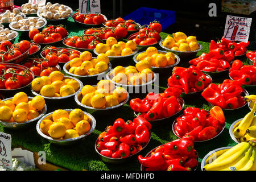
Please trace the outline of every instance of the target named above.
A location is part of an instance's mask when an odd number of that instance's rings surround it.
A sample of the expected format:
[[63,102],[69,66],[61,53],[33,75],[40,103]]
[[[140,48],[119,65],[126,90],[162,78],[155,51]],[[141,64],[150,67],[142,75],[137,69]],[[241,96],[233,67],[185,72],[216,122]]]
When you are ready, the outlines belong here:
[[0,93],[11,97],[17,92],[28,92],[35,77],[29,68],[13,63],[1,63],[0,73]]

